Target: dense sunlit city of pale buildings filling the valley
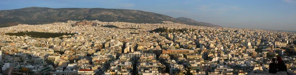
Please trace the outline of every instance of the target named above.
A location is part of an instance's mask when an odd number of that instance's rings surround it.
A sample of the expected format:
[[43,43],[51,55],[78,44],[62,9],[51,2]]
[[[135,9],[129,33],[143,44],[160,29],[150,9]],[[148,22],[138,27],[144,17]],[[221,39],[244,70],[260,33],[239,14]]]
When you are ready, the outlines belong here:
[[0,75],[260,75],[276,56],[296,73],[292,32],[98,20],[0,30]]

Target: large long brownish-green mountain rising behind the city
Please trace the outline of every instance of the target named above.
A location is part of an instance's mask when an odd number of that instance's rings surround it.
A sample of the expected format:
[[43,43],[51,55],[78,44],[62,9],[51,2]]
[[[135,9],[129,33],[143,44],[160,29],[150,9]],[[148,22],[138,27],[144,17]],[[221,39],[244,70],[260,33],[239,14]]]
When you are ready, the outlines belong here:
[[68,20],[99,20],[103,22],[119,21],[131,23],[162,23],[162,21],[171,21],[185,24],[167,15],[129,9],[26,7],[0,10],[0,27],[15,26],[18,24],[47,24],[66,22]]

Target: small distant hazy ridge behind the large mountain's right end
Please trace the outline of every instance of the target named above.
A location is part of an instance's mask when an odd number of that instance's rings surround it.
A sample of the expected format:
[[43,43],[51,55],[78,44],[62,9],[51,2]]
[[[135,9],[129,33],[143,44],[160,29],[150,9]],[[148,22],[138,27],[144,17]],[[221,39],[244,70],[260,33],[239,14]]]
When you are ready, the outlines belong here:
[[185,23],[187,25],[206,26],[206,27],[222,27],[222,26],[219,26],[219,25],[211,24],[211,23],[198,22],[198,21],[195,21],[195,20],[192,20],[192,19],[189,19],[189,18],[185,18],[185,17],[179,17],[179,18],[176,18],[176,20],[178,20],[178,21],[180,21],[182,23]]

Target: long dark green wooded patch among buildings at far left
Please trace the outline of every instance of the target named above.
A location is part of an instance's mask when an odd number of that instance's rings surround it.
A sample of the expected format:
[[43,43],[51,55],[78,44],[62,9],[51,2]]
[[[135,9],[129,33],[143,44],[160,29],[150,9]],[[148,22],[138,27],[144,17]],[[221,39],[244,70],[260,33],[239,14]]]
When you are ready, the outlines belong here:
[[74,35],[70,33],[45,33],[45,32],[19,32],[19,33],[6,33],[9,36],[30,36],[32,38],[56,38],[64,35]]

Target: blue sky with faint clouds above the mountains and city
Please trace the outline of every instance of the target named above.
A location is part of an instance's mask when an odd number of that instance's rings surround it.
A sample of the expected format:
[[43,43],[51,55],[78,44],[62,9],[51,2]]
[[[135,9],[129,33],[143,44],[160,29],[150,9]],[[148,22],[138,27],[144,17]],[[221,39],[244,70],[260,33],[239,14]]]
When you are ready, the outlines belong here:
[[296,0],[0,0],[24,7],[119,8],[186,17],[222,27],[296,31]]

